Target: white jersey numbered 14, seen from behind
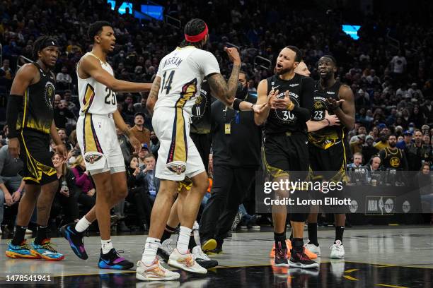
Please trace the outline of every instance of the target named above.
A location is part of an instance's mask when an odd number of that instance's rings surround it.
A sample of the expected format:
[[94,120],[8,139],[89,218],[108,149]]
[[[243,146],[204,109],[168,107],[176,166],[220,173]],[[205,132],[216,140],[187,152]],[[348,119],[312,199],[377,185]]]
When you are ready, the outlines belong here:
[[218,61],[212,53],[193,46],[176,48],[159,62],[156,75],[161,77],[161,87],[154,110],[181,108],[191,114],[203,78],[212,73],[219,73]]

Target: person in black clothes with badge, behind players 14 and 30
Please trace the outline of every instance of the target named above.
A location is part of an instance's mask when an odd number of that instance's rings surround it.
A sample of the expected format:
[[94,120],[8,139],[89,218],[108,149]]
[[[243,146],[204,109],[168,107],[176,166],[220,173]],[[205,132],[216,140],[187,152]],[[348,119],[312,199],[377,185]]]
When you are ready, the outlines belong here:
[[[257,100],[248,94],[248,78],[242,71],[236,99],[250,103]],[[221,253],[239,205],[255,188],[261,138],[261,128],[255,125],[252,111],[234,111],[221,101],[212,104],[214,178],[200,222],[202,243],[209,239],[217,241],[217,248],[210,252]]]

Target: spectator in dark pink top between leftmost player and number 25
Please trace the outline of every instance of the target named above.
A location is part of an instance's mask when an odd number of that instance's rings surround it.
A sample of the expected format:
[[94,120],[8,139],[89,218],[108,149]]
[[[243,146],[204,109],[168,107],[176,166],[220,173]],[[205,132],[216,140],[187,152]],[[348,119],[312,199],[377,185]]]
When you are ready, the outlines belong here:
[[83,156],[76,157],[74,164],[71,166],[71,171],[75,176],[75,184],[79,188],[76,198],[78,203],[84,207],[83,214],[86,214],[96,204],[96,190],[91,176],[88,175],[86,170]]

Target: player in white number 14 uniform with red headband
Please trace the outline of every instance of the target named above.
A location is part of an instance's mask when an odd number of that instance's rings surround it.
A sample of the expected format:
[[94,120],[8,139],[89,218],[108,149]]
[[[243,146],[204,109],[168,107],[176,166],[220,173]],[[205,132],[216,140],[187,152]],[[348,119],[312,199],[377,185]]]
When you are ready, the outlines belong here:
[[146,104],[149,112],[154,112],[152,125],[161,142],[156,163],[156,177],[161,179],[161,186],[151,212],[149,237],[142,260],[137,263],[136,277],[139,280],[176,280],[180,276],[159,264],[156,251],[161,246],[160,239],[178,193],[179,182],[185,178],[192,181],[192,188],[188,193],[178,196],[180,233],[168,264],[189,272],[207,273],[188,251],[192,225],[208,186],[202,159],[190,138],[191,108],[200,94],[202,80],[207,78],[212,95],[226,106],[260,111],[259,105],[233,101],[241,67],[237,50],[226,48],[233,62],[233,70],[226,83],[215,56],[202,49],[209,39],[206,23],[192,19],[185,25],[184,32],[185,41],[161,60]]

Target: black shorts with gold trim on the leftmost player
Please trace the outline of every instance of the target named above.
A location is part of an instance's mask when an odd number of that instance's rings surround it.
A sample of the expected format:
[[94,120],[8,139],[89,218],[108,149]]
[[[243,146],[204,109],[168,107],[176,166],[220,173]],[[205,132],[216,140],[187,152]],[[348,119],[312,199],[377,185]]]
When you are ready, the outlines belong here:
[[45,185],[57,181],[57,172],[51,160],[50,135],[25,129],[18,140],[25,184]]

